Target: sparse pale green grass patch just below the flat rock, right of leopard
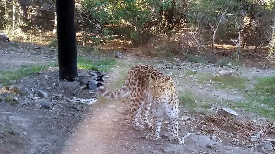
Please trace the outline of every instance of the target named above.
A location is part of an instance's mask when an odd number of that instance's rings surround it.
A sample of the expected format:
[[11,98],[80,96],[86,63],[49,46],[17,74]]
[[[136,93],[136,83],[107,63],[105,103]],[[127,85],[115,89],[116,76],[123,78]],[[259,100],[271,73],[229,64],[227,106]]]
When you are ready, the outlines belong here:
[[215,77],[213,81],[221,82],[221,88],[237,88],[239,90],[245,88],[245,83],[248,81],[244,77]]

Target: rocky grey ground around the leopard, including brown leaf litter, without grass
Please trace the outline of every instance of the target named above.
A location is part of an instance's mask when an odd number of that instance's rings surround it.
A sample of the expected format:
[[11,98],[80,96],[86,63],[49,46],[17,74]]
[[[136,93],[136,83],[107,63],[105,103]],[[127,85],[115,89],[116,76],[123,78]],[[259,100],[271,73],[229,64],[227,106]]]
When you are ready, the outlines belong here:
[[[1,43],[0,70],[17,69],[22,65],[49,64],[56,62],[57,51],[47,46],[16,42]],[[83,53],[81,53],[84,55]],[[114,58],[114,52],[104,56]],[[85,55],[87,57],[91,55]],[[196,98],[208,98],[213,110],[207,114],[191,114],[180,106],[179,135],[193,133],[184,145],[170,144],[167,136],[168,123],[164,119],[161,137],[147,141],[150,129],[138,132],[130,123],[127,113],[128,98],[106,100],[97,96],[93,85],[93,70],[78,71],[76,82],[58,79],[58,68],[50,67],[33,76],[17,80],[10,89],[1,92],[9,96],[13,87],[18,94],[10,101],[0,102],[0,153],[2,154],[77,154],[77,153],[274,153],[266,139],[275,138],[275,125],[258,115],[237,110],[239,120],[216,117],[215,111],[223,100],[242,100],[244,96],[237,89],[220,89],[210,80],[199,82],[187,70],[215,75],[218,68],[212,64],[195,64],[185,60],[169,63],[160,58],[142,57],[123,53],[120,61],[125,65],[114,66],[106,73],[107,86],[113,87],[123,74],[124,67],[134,63],[149,63],[162,72],[171,75],[179,91],[189,91]],[[122,74],[122,75],[121,75]],[[194,73],[197,75],[197,73]],[[241,68],[241,74],[252,78],[271,76],[273,69]],[[249,87],[249,86],[248,86]],[[17,93],[15,89],[15,93]],[[9,102],[9,103],[6,103]],[[12,102],[12,103],[10,103]],[[13,105],[14,104],[14,105]],[[13,105],[13,106],[12,106]],[[151,118],[150,118],[151,119]],[[252,136],[252,137],[251,137]],[[264,148],[266,149],[264,149]]]

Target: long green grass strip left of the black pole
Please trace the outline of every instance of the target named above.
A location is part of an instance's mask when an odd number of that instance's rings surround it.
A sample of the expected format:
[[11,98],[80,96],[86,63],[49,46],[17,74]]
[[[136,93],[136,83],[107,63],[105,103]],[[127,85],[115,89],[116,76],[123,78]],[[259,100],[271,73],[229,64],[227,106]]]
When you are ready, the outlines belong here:
[[43,69],[57,66],[57,64],[49,64],[49,65],[35,65],[35,66],[25,66],[22,65],[20,69],[16,71],[1,71],[0,72],[0,84],[3,86],[11,85],[11,81],[18,80],[19,78],[30,76],[34,73],[38,73]]

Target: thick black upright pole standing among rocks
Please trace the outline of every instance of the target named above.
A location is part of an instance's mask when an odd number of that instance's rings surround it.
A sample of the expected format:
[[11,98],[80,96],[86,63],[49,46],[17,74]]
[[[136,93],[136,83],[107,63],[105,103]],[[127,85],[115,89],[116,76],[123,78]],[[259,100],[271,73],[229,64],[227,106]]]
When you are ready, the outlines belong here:
[[77,76],[74,0],[56,0],[59,79]]

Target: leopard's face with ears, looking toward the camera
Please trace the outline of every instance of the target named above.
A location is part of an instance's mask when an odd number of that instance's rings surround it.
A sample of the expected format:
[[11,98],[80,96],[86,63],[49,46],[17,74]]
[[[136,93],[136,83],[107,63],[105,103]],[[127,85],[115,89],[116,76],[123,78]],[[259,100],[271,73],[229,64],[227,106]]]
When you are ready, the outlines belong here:
[[160,102],[164,98],[169,98],[169,83],[170,77],[154,77],[150,78],[150,95],[153,100],[156,102]]

